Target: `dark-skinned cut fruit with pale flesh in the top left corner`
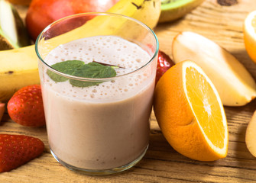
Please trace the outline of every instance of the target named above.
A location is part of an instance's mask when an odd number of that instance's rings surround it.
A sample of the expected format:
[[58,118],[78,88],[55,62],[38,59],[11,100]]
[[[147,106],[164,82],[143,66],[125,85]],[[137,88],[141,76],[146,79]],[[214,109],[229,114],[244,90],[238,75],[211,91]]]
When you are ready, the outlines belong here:
[[11,3],[0,0],[0,50],[30,45],[27,30]]

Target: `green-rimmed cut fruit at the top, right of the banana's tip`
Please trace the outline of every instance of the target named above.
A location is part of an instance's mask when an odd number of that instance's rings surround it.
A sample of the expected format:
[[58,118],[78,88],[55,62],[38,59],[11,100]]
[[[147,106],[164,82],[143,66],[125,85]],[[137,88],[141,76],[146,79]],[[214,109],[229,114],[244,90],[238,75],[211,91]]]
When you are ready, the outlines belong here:
[[161,0],[159,22],[174,21],[201,5],[204,0]]

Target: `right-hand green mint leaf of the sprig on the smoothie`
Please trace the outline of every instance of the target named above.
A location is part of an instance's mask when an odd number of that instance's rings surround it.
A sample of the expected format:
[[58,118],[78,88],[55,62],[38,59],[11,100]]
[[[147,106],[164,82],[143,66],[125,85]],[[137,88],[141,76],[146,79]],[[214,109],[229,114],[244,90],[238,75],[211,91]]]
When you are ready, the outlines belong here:
[[[83,78],[101,79],[115,77],[116,72],[111,66],[103,66],[100,63],[88,63],[76,69],[72,75]],[[89,87],[99,85],[100,83],[102,82],[83,82],[70,79],[70,84],[77,87]]]

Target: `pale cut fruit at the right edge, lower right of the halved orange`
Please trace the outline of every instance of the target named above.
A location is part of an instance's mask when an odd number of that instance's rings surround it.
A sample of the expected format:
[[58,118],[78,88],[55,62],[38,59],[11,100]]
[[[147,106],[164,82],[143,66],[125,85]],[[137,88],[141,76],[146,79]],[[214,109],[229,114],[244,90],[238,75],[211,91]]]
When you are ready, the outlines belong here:
[[251,117],[251,121],[248,124],[248,127],[246,129],[245,133],[245,143],[247,146],[247,149],[251,154],[256,157],[256,111]]

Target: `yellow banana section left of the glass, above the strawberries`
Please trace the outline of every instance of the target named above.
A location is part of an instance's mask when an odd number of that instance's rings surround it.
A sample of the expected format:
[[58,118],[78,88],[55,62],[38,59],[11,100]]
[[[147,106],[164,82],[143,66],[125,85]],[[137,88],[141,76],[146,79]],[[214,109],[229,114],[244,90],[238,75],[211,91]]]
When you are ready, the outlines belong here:
[[39,84],[34,46],[0,51],[0,101],[26,85]]

